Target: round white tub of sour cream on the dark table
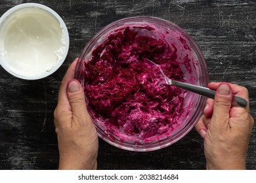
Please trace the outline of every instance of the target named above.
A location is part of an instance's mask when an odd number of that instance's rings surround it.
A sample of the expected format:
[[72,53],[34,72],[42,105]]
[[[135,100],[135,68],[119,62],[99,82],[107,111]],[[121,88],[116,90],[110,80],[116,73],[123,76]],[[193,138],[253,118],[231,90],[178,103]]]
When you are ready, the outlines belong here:
[[0,18],[0,64],[18,78],[53,74],[66,59],[69,43],[64,21],[45,5],[17,5]]

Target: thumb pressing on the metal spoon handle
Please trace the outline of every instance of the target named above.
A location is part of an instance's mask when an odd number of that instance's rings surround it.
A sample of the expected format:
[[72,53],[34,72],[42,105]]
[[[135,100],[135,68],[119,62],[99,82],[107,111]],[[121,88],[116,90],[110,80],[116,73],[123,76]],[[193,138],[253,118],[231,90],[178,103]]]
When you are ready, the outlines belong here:
[[217,88],[213,105],[213,122],[221,126],[228,124],[229,111],[232,103],[232,88],[230,84],[222,82]]

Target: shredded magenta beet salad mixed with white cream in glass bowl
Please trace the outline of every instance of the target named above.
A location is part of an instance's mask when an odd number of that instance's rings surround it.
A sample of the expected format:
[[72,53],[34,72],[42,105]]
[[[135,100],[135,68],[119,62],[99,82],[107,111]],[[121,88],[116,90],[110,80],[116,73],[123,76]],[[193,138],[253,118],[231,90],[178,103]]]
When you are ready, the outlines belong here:
[[[85,61],[84,90],[94,118],[140,139],[174,129],[183,112],[184,90],[163,84],[163,76],[184,81],[175,44],[126,27],[108,36]],[[139,27],[154,31],[153,27]]]

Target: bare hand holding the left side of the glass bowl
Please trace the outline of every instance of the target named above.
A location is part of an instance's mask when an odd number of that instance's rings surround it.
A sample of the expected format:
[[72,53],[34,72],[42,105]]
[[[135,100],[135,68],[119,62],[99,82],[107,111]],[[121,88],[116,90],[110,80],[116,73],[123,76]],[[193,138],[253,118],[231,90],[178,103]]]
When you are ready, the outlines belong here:
[[98,137],[87,112],[83,88],[74,80],[76,63],[77,59],[66,71],[54,110],[60,153],[58,169],[96,169]]

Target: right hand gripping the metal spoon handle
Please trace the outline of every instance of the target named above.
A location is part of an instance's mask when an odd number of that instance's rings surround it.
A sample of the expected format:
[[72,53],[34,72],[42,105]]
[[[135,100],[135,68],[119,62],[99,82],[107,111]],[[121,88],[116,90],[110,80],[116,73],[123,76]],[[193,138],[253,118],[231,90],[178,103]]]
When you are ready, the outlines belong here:
[[207,99],[196,130],[203,137],[207,169],[246,169],[245,158],[254,120],[246,108],[232,107],[232,95],[249,101],[248,90],[228,83],[210,83],[215,99]]

